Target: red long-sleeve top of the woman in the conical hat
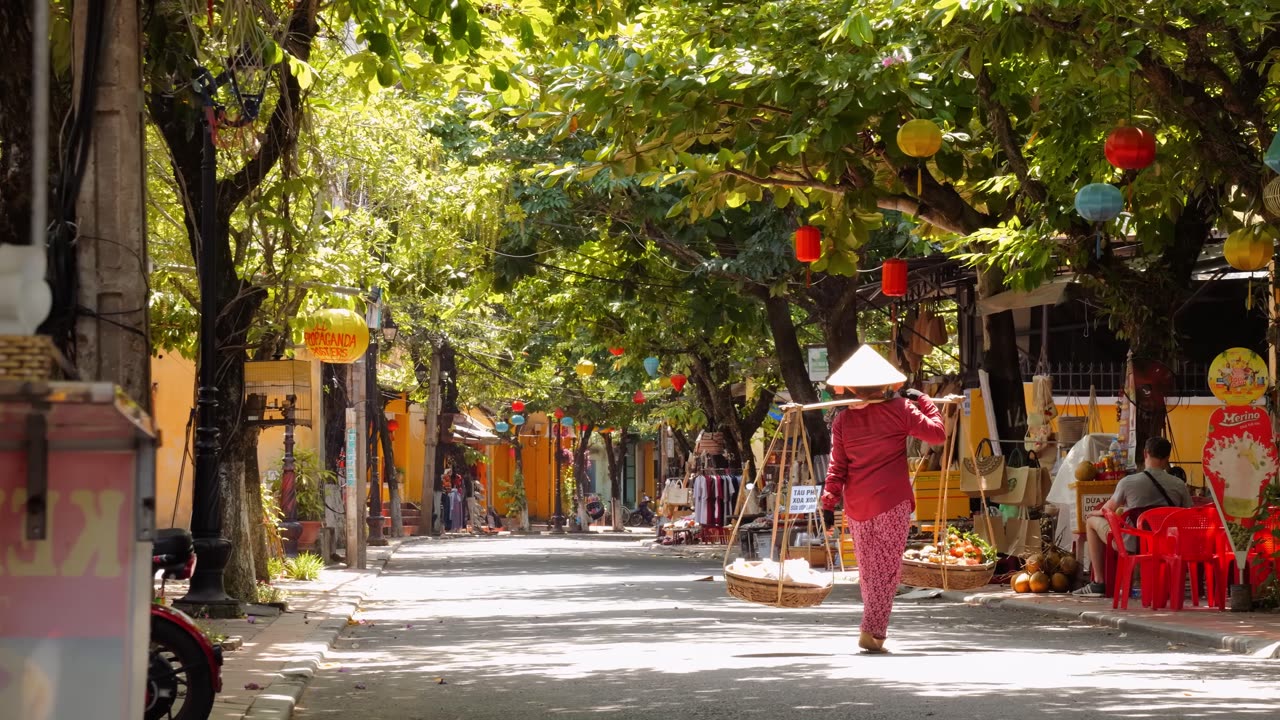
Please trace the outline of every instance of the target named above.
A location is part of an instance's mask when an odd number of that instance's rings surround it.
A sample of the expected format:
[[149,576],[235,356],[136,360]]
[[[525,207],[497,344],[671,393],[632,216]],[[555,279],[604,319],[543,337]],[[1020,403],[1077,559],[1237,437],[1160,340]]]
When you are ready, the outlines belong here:
[[906,469],[908,436],[931,445],[946,441],[942,415],[929,398],[911,402],[895,397],[856,405],[836,416],[824,489],[844,497],[846,518],[870,520],[902,501],[915,509]]

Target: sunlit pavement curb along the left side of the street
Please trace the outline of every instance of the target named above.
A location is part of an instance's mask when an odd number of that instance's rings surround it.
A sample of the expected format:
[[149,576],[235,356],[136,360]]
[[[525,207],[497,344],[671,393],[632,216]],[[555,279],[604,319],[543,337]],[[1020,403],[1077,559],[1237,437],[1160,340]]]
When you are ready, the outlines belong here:
[[308,651],[282,669],[279,679],[273,680],[271,684],[253,698],[253,702],[244,711],[243,720],[289,720],[293,717],[293,708],[297,707],[298,701],[302,700],[302,693],[307,689],[307,684],[311,683],[311,678],[320,669],[325,653],[329,652],[333,643],[337,642],[338,635],[346,629],[347,619],[369,597],[374,584],[383,577],[383,571],[387,570],[387,565],[396,557],[399,548],[412,539],[399,538],[399,541],[393,541],[390,552],[379,561],[380,565],[376,566],[376,573],[369,575],[367,580],[362,584],[364,587],[353,593],[349,600],[338,605],[328,620],[311,630],[311,634],[301,643]]

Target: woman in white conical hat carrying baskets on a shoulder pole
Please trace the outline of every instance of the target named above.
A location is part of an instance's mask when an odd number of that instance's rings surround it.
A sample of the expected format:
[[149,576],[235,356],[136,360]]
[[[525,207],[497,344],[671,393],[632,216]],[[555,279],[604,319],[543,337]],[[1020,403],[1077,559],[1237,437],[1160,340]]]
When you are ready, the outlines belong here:
[[923,392],[892,388],[906,377],[869,346],[863,346],[828,383],[852,389],[864,402],[836,416],[831,427],[831,466],[823,507],[845,503],[854,533],[863,593],[858,646],[884,652],[893,593],[902,573],[902,551],[910,532],[915,496],[906,468],[906,438],[931,445],[946,441],[942,415]]

